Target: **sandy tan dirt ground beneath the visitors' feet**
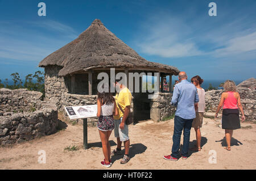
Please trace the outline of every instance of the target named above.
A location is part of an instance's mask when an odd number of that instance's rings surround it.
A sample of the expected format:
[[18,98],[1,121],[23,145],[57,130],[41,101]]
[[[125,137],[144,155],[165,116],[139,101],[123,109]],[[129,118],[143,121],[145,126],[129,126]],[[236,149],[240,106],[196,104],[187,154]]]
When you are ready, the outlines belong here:
[[[176,162],[163,159],[163,155],[171,153],[174,119],[129,125],[131,160],[121,165],[122,155],[117,155],[112,157],[112,167],[106,168],[100,165],[104,156],[97,128],[88,127],[89,149],[85,150],[82,125],[67,123],[67,128],[55,134],[0,148],[0,169],[256,169],[256,124],[241,123],[242,128],[233,133],[231,151],[224,149],[225,135],[220,124],[220,119],[204,118],[201,128],[203,149],[189,151],[188,159],[180,158]],[[190,147],[195,144],[195,139],[192,128]],[[183,144],[183,135],[180,144]],[[79,149],[64,150],[73,145]],[[114,132],[110,136],[110,145],[111,149],[116,147]],[[39,150],[46,151],[46,163],[38,163]],[[216,158],[216,163],[210,163],[210,157]]]

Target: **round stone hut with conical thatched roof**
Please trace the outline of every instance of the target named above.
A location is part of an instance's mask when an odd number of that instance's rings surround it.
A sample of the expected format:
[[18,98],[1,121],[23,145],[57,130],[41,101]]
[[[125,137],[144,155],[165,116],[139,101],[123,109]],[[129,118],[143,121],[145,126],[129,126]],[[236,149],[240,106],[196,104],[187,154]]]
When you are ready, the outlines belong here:
[[[110,74],[110,69],[114,68],[115,74],[159,73],[159,87],[163,87],[163,77],[170,76],[169,91],[160,89],[156,99],[148,99],[148,92],[130,90],[135,120],[162,120],[174,112],[174,107],[170,105],[171,80],[179,70],[145,60],[99,19],[94,20],[77,39],[49,54],[39,63],[39,67],[45,72],[46,100],[55,103],[60,110],[64,106],[96,104],[97,85],[101,81],[97,75],[101,72]],[[142,78],[139,82],[142,85]]]

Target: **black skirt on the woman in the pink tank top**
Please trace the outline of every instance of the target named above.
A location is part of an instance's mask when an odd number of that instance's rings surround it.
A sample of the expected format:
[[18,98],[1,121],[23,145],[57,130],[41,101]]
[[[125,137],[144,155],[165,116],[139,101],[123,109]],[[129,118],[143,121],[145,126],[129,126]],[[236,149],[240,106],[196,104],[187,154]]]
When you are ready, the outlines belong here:
[[240,129],[238,109],[224,109],[222,111],[222,129]]

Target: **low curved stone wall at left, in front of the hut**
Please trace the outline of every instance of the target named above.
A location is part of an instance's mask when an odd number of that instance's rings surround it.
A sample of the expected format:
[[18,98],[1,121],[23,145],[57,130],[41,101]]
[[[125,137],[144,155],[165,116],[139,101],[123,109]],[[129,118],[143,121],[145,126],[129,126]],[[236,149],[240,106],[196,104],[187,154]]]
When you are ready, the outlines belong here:
[[57,126],[57,107],[42,101],[41,92],[0,89],[0,145],[55,133]]

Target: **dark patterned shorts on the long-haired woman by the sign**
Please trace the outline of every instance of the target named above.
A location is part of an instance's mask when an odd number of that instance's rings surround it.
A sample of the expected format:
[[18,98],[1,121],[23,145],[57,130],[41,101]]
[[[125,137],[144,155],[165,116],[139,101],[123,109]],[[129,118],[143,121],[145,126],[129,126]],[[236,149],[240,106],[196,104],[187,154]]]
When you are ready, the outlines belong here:
[[98,117],[97,128],[101,131],[112,131],[114,129],[113,115]]

